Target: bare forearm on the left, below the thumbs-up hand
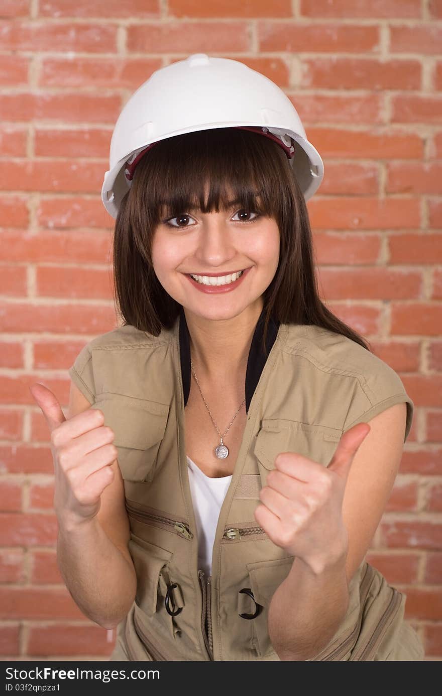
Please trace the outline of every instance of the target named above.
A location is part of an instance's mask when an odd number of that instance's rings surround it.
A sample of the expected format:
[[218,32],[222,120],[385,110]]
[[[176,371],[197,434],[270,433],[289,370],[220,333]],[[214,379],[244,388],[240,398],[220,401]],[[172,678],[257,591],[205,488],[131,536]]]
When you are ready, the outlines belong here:
[[134,569],[94,517],[74,529],[58,525],[57,562],[81,611],[104,628],[127,615],[136,593]]

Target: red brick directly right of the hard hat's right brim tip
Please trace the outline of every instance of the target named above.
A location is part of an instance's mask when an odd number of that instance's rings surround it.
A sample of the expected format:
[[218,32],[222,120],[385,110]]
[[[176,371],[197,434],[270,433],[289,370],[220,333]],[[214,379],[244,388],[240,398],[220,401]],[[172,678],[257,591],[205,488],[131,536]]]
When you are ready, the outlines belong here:
[[379,189],[376,164],[327,164],[327,176],[321,183],[321,196],[370,196]]

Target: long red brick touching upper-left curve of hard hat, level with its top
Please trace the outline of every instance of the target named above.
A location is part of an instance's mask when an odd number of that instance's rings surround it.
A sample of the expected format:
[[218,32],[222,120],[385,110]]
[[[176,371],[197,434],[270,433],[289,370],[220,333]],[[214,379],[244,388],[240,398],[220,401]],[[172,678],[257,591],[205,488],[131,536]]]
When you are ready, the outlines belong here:
[[159,58],[46,58],[38,84],[42,87],[107,87],[135,91],[162,67]]

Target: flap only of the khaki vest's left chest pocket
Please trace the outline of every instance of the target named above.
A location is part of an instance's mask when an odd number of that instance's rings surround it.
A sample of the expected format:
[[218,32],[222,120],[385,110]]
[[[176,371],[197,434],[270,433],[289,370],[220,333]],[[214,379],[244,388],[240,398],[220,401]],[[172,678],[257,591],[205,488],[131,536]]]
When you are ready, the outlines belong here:
[[104,413],[104,425],[113,429],[116,446],[147,450],[164,437],[168,404],[102,393],[93,408]]

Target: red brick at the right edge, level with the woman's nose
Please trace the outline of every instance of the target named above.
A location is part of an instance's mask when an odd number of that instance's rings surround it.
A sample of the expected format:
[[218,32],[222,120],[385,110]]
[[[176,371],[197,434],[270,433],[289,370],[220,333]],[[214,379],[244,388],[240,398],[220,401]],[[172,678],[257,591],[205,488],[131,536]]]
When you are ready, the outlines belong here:
[[432,232],[388,235],[391,264],[442,263],[442,234]]

